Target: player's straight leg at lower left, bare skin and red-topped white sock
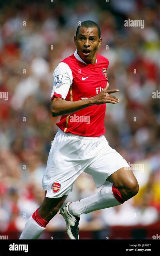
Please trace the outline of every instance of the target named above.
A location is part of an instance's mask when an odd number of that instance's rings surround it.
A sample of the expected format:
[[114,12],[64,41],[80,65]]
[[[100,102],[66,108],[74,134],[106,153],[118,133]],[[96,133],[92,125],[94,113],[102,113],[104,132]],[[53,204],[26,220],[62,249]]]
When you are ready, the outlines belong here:
[[19,239],[37,239],[49,221],[57,214],[67,196],[60,198],[45,197],[42,205],[28,219]]

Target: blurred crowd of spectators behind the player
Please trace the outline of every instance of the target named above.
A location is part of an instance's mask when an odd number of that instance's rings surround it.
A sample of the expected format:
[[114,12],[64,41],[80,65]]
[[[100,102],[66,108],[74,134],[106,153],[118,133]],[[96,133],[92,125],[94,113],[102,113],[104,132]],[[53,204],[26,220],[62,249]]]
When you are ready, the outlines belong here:
[[[58,130],[50,112],[53,71],[76,49],[79,21],[101,28],[99,54],[109,59],[110,89],[118,106],[107,105],[109,145],[130,163],[139,193],[122,205],[81,215],[81,238],[151,238],[160,227],[159,1],[50,0],[0,3],[0,234],[19,238],[44,198],[42,177]],[[144,20],[144,29],[124,21]],[[108,46],[109,48],[106,49]],[[2,94],[1,94],[2,95]],[[160,97],[160,96],[159,96]],[[101,187],[102,188],[102,187]],[[67,201],[101,188],[83,173]],[[66,238],[57,214],[41,239]]]

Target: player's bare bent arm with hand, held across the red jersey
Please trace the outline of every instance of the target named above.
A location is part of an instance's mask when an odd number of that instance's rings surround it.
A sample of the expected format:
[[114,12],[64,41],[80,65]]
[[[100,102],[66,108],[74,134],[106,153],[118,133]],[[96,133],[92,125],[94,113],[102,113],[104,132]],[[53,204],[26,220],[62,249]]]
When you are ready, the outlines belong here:
[[119,90],[108,90],[109,83],[106,87],[96,96],[78,100],[78,101],[66,101],[60,97],[55,97],[51,102],[51,113],[53,117],[63,116],[65,114],[71,114],[83,108],[92,106],[92,105],[101,105],[105,103],[116,104],[119,100],[110,95],[110,93],[116,93]]

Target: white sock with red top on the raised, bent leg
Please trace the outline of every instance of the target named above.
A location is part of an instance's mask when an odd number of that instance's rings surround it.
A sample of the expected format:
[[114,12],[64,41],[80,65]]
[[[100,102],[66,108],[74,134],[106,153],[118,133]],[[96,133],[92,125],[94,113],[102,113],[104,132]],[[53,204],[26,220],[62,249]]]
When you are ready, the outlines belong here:
[[[112,191],[112,186],[114,195]],[[115,197],[119,201],[117,201]],[[124,203],[124,201],[126,200],[122,198],[118,189],[115,188],[113,184],[108,184],[107,186],[103,187],[98,193],[90,197],[81,199],[77,202],[72,202],[69,205],[69,211],[71,212],[71,214],[79,217],[82,213],[89,213],[92,211],[113,207]]]

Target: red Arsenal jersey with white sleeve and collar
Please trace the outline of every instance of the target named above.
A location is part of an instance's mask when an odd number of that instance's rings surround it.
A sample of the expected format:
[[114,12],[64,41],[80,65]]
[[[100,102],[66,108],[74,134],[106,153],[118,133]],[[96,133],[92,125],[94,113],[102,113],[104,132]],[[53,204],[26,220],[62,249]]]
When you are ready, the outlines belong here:
[[[75,52],[62,60],[55,69],[54,96],[67,101],[78,101],[100,93],[106,86],[106,70],[109,61],[97,54],[95,65],[86,64]],[[105,134],[104,118],[106,104],[92,105],[61,117],[56,125],[64,132],[87,137],[98,137]]]

